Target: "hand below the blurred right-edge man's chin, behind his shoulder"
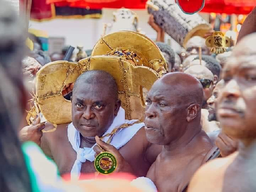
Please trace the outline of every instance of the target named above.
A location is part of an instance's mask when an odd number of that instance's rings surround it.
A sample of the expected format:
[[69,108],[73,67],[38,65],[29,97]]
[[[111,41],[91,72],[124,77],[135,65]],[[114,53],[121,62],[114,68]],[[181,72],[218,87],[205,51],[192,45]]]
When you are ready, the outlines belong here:
[[237,150],[238,141],[221,132],[215,141],[215,145],[220,149],[221,156],[226,157]]

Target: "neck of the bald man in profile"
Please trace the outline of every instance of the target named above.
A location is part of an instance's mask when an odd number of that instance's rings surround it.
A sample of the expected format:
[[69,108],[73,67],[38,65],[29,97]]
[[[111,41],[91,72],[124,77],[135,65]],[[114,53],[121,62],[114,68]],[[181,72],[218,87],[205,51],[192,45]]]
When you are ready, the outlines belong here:
[[187,126],[186,132],[177,140],[172,141],[169,145],[163,145],[163,150],[161,154],[166,157],[169,155],[175,155],[180,153],[186,153],[187,148],[190,148],[191,145],[194,145],[195,141],[199,140],[198,137],[202,135],[201,125],[197,126]]

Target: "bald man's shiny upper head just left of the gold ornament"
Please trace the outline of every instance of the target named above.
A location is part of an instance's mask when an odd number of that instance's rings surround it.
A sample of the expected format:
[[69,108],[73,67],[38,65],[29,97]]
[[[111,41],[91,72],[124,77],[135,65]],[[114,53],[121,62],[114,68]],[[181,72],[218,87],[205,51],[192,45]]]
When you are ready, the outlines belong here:
[[187,56],[198,55],[199,47],[202,48],[202,55],[210,55],[209,49],[205,44],[204,38],[193,37],[193,38],[189,39],[189,41],[186,44]]

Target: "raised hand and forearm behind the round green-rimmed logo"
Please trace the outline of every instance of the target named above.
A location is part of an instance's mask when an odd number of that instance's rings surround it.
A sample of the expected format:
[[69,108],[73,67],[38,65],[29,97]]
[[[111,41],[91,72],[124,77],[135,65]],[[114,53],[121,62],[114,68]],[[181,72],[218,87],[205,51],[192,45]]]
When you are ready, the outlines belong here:
[[98,144],[93,147],[93,150],[96,153],[95,157],[102,152],[108,151],[116,157],[117,166],[115,172],[132,172],[131,166],[125,161],[118,149],[116,149],[113,145],[105,143],[98,136],[95,137],[95,140]]

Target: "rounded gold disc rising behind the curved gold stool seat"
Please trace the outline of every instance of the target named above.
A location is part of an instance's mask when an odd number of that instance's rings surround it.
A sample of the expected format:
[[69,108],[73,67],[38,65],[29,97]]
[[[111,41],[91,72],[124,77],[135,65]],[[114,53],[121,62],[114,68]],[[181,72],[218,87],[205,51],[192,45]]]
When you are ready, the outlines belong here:
[[[94,46],[92,56],[116,55],[118,52],[121,54],[133,52],[136,54],[136,57],[134,59],[128,59],[131,64],[150,67],[159,74],[166,73],[167,63],[162,52],[157,45],[145,35],[134,31],[120,31],[105,35]],[[125,55],[121,57],[127,59]],[[154,62],[156,62],[156,64],[154,64]],[[157,67],[154,67],[155,65],[157,65]]]

